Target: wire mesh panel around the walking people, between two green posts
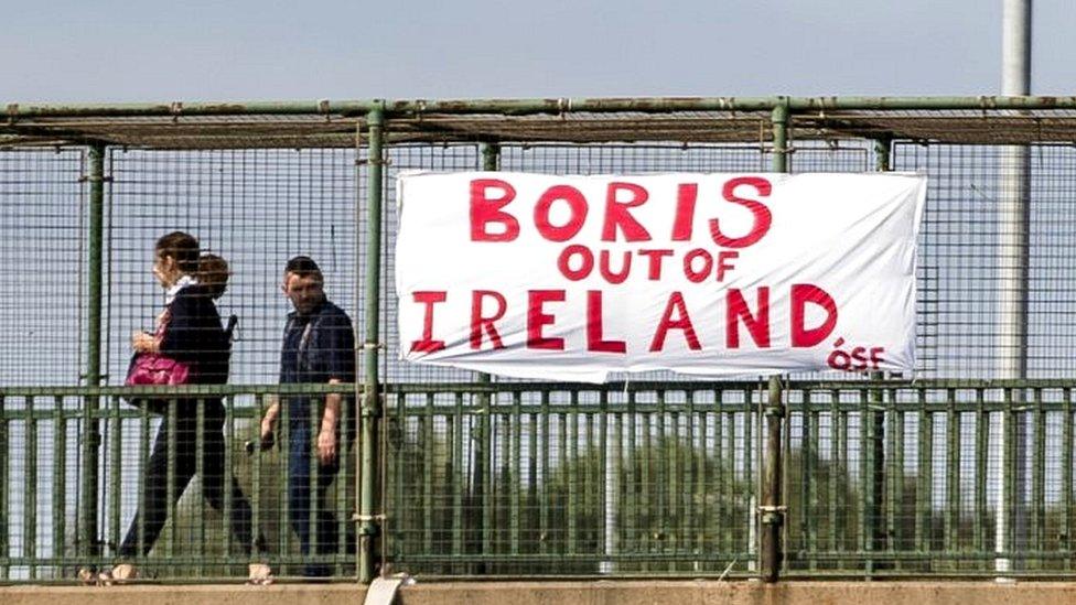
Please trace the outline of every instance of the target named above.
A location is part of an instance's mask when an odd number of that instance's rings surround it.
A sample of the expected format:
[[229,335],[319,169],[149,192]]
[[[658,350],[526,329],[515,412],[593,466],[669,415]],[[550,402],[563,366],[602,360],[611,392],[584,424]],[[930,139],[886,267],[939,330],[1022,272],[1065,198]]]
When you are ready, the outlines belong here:
[[[203,252],[223,256],[229,264],[227,290],[216,306],[224,321],[229,315],[238,320],[230,356],[233,382],[271,383],[280,375],[281,334],[293,311],[280,289],[284,263],[291,257],[308,255],[319,263],[326,295],[354,321],[358,273],[353,150],[122,151],[111,154],[109,168],[105,350],[110,383],[122,382],[130,357],[129,334],[152,331],[153,318],[163,307],[163,291],[150,269],[154,241],[173,230],[194,235]],[[244,443],[257,441],[265,401],[259,404],[249,395],[228,398],[227,413],[220,399],[198,403],[191,407],[179,401],[174,419],[151,414],[133,425],[110,421],[106,440],[119,440],[110,468],[123,469],[116,489],[127,496],[112,505],[111,519],[105,525],[110,552],[120,557],[148,553],[141,568],[162,576],[209,573],[204,568],[169,563],[175,558],[219,561],[232,557],[243,562],[251,536],[259,540],[259,548],[271,547],[277,561],[299,557],[301,541],[291,533],[289,516],[301,517],[301,511],[314,510],[318,503],[295,500],[288,487],[289,482],[302,483],[297,474],[309,472],[289,468],[293,464],[288,461],[288,429],[278,425],[282,445],[261,463],[256,488],[251,480],[255,461]],[[197,412],[202,413],[201,429],[196,408],[204,408]],[[346,422],[353,425],[355,413],[347,415]],[[314,420],[319,419],[311,418]],[[287,412],[281,424],[286,423]],[[297,430],[294,424],[291,430]],[[353,434],[351,429],[347,434]],[[158,450],[162,440],[171,450]],[[352,450],[342,447],[346,469],[354,468],[347,463],[354,456]],[[154,457],[157,453],[162,454],[161,460]],[[121,461],[137,462],[120,466]],[[148,478],[161,461],[168,472]],[[198,477],[185,493],[184,475]],[[144,494],[155,487],[154,482],[177,482],[172,489],[179,493]],[[346,479],[336,483],[337,490],[347,486]],[[170,521],[154,547],[153,540],[144,538],[146,528],[137,526],[144,526],[143,517],[159,515],[161,507],[180,495],[177,504],[169,505],[175,508],[166,510]],[[246,518],[250,496],[258,499],[261,534],[237,530],[250,522]],[[327,497],[332,501],[333,496]],[[141,517],[136,516],[138,510]],[[207,530],[206,518],[222,517],[230,522]],[[300,520],[304,527],[310,525],[309,519]],[[132,552],[130,537],[136,534],[138,549]],[[217,574],[235,571],[215,570]],[[299,570],[283,565],[280,571]]]

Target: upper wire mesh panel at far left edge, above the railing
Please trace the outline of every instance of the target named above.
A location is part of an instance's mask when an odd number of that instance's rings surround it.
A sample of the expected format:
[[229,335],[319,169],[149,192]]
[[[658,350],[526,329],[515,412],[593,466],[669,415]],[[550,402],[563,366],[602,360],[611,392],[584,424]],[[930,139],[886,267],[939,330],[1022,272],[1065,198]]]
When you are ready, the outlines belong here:
[[86,371],[86,159],[0,152],[0,385],[77,385]]

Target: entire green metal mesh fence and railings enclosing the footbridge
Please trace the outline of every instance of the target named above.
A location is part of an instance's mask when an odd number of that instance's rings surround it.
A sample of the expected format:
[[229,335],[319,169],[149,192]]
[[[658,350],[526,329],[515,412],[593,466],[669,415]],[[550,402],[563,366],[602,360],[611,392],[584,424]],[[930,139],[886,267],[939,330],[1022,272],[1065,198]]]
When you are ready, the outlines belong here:
[[[127,341],[158,311],[151,247],[173,229],[229,259],[219,306],[240,327],[233,385],[157,395],[224,398],[225,463],[195,475],[236,482],[263,544],[246,554],[237,498],[215,506],[195,480],[137,561],[150,577],[241,580],[254,560],[361,581],[1072,574],[1076,99],[7,107],[0,582],[117,560],[160,422],[120,386]],[[1024,250],[1003,219],[1013,149],[1030,174]],[[923,171],[915,380],[648,372],[595,387],[402,365],[388,184],[409,169]],[[335,514],[337,548],[313,558],[289,528],[286,455],[246,447],[267,402],[298,392],[275,385],[294,253],[320,261],[354,320],[361,368],[358,385],[305,389],[359,402],[343,469],[313,503]],[[1011,258],[1026,269],[1022,376],[1004,369]]]

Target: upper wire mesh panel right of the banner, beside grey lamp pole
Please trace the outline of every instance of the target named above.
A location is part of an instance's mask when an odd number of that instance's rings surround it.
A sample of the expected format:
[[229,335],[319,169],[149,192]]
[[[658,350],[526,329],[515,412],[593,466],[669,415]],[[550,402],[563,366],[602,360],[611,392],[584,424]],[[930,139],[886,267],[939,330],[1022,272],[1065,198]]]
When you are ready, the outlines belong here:
[[1034,145],[1029,153],[1027,222],[1002,222],[1000,208],[1019,185],[1018,169],[1002,145],[900,143],[896,170],[923,171],[928,194],[919,251],[918,357],[924,376],[997,378],[1014,352],[1002,337],[1011,331],[999,306],[1001,267],[1020,252],[1002,246],[1013,228],[1033,237],[1026,250],[1026,375],[1073,374],[1065,347],[1076,338],[1072,322],[1076,261],[1072,235],[1061,217],[1072,212],[1073,151]]

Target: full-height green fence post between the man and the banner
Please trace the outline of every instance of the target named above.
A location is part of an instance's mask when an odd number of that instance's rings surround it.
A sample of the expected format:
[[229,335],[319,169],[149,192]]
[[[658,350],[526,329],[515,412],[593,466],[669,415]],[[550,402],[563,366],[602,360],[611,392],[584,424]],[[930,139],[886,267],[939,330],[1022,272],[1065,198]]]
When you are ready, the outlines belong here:
[[385,114],[380,108],[366,115],[368,129],[368,186],[366,206],[366,341],[363,344],[365,388],[362,410],[362,485],[358,510],[358,581],[369,584],[374,581],[374,563],[377,558],[377,498],[380,465],[377,463],[378,420],[381,414],[379,376],[377,368],[380,346],[380,280],[381,280],[381,179],[385,159],[381,151]]

